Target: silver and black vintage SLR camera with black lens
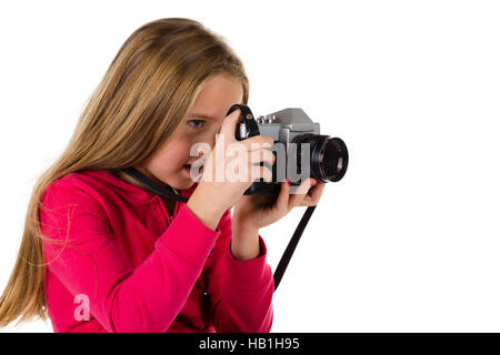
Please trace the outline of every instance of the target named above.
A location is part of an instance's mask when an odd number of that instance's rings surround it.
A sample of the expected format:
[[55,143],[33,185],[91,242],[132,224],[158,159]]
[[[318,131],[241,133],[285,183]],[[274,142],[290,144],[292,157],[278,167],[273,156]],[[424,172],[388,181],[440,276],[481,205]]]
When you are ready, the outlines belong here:
[[312,122],[302,109],[284,109],[254,119],[249,106],[234,104],[228,114],[237,109],[242,112],[237,140],[259,134],[274,140],[272,152],[276,162],[268,166],[272,169],[272,182],[259,179],[244,192],[246,195],[279,192],[280,182],[287,178],[293,193],[308,178],[318,182],[337,182],[346,174],[349,162],[346,143],[340,138],[320,134],[320,124]]

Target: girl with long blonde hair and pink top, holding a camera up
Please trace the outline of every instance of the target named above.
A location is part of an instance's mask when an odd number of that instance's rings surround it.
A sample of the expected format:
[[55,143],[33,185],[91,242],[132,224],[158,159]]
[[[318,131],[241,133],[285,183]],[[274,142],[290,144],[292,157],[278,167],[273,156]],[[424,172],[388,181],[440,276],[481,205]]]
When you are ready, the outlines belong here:
[[[273,278],[259,229],[316,205],[324,184],[306,180],[290,194],[282,182],[264,203],[243,195],[250,179],[214,179],[242,159],[228,150],[240,111],[226,114],[248,98],[241,61],[201,23],[161,19],[133,32],[33,189],[0,326],[49,316],[54,332],[269,332]],[[198,181],[196,143],[212,148]],[[269,180],[264,143],[238,141],[252,178]]]

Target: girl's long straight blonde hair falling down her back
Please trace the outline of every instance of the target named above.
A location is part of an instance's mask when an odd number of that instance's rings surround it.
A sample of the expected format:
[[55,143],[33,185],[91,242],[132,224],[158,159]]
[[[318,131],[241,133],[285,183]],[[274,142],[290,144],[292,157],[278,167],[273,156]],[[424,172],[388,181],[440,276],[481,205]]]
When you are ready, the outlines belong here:
[[[200,22],[168,18],[146,23],[122,44],[87,102],[68,146],[37,179],[18,258],[0,297],[0,326],[48,310],[39,209],[53,181],[81,170],[141,164],[178,131],[200,84],[217,73],[238,79],[248,102],[243,65],[224,39]],[[18,322],[18,324],[19,324]]]

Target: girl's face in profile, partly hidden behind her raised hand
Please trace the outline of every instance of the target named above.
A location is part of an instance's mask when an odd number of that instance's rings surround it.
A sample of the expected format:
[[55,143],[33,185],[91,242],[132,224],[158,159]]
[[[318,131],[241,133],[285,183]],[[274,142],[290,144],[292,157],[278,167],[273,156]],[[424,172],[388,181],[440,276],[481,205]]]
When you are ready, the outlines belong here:
[[190,156],[191,146],[207,143],[213,149],[216,134],[222,125],[226,113],[234,103],[241,103],[243,89],[237,79],[217,74],[202,83],[188,119],[179,134],[160,146],[142,165],[136,166],[157,183],[168,184],[177,190],[192,186],[189,169],[200,156]]

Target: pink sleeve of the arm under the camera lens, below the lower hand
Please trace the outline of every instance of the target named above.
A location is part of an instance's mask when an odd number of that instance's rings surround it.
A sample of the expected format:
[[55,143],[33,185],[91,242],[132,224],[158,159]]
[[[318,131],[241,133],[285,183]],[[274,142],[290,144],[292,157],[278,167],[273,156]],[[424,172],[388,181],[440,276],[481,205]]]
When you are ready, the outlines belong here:
[[249,261],[237,260],[230,251],[229,212],[222,216],[219,227],[221,236],[206,275],[214,327],[226,333],[268,333],[272,325],[274,281],[266,261],[266,244],[259,235],[260,255]]

